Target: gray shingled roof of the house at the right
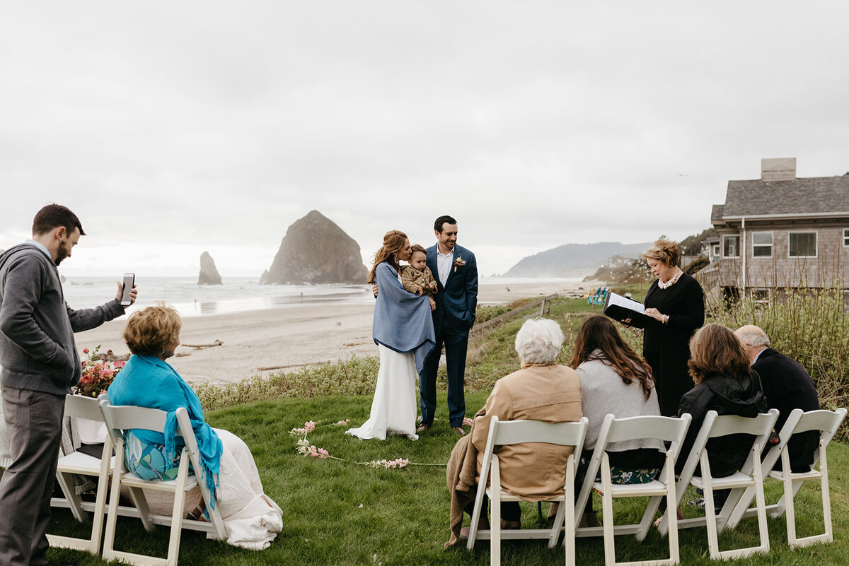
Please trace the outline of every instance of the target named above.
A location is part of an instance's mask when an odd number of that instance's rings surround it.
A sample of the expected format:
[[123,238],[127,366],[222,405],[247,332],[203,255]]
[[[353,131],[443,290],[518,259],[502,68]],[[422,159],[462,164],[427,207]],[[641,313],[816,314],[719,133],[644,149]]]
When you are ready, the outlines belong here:
[[740,216],[841,212],[849,212],[849,174],[795,180],[729,180],[725,204],[713,206],[711,222]]

